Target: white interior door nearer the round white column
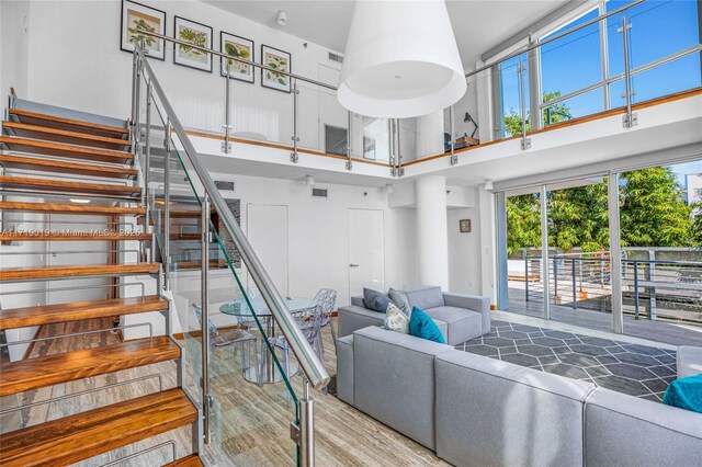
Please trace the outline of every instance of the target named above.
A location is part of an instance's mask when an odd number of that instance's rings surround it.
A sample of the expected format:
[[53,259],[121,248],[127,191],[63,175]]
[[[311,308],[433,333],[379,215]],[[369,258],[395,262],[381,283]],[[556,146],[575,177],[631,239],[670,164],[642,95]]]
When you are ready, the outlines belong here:
[[383,210],[349,209],[349,294],[385,289]]

